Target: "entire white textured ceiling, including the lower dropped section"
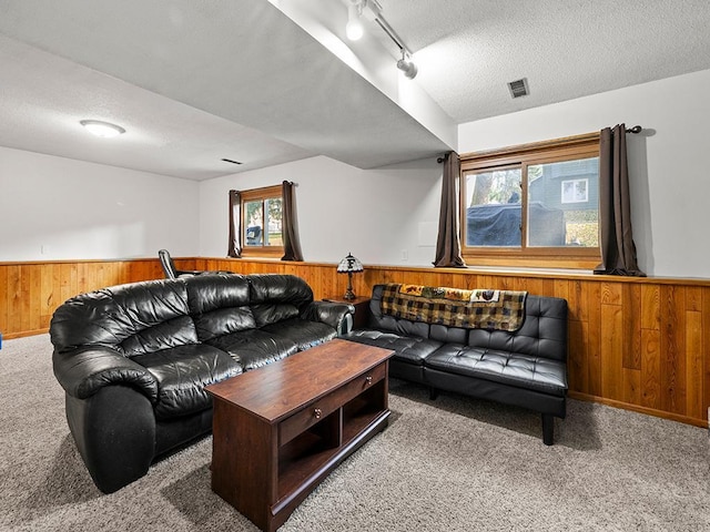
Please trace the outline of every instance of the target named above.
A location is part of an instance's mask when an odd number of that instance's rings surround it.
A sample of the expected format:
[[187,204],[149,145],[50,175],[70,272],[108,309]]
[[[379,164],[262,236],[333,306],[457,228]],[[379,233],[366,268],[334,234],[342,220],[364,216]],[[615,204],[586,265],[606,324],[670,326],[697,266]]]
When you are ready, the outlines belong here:
[[316,154],[367,168],[456,149],[459,123],[710,68],[707,0],[381,3],[414,82],[378,28],[345,47],[341,0],[0,0],[0,145],[191,180]]

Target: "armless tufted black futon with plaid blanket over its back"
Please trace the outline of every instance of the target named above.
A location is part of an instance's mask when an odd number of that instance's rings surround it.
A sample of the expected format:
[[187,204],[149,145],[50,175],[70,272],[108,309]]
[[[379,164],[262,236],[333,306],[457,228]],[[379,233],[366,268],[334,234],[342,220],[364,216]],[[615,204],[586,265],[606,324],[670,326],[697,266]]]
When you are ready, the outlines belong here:
[[542,441],[554,441],[554,418],[565,418],[567,301],[528,295],[516,331],[447,327],[383,314],[384,285],[375,285],[368,327],[346,338],[395,351],[389,376],[438,390],[491,399],[542,415]]

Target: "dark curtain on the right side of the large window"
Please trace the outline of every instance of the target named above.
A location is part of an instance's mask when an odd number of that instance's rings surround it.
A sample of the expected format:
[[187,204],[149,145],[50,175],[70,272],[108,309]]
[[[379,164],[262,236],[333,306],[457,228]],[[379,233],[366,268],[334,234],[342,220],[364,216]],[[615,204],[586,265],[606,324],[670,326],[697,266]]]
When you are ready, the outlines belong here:
[[599,136],[599,237],[601,264],[595,274],[646,277],[631,231],[625,124],[605,127]]

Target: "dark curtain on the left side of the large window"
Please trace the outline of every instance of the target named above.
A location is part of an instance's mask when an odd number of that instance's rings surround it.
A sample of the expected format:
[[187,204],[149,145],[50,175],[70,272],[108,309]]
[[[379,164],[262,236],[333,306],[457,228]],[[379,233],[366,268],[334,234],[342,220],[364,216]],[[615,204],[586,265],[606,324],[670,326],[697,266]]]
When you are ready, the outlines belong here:
[[442,180],[442,209],[439,211],[439,233],[436,241],[435,267],[465,268],[462,257],[462,243],[458,233],[458,195],[456,181],[460,173],[458,153],[448,152],[444,157],[444,178]]

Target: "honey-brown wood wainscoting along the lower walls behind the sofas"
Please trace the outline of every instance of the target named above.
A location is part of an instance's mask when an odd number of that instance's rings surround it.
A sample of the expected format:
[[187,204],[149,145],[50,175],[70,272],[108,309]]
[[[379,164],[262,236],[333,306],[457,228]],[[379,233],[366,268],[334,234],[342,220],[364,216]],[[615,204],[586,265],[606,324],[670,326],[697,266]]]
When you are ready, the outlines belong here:
[[[270,259],[175,259],[181,269],[283,273],[304,278],[317,299],[345,293],[335,264]],[[0,263],[0,331],[47,331],[69,297],[163,278],[158,259]],[[570,397],[708,426],[710,280],[475,268],[365,266],[353,276],[366,296],[378,283],[527,290],[569,303]]]

